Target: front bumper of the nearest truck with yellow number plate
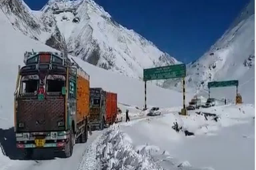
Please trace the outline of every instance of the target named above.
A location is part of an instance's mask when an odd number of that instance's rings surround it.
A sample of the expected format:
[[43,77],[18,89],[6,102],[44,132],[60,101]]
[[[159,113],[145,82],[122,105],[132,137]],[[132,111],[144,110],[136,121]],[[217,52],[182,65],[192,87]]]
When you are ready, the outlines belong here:
[[16,147],[19,149],[46,147],[63,148],[69,137],[70,134],[67,131],[16,133]]

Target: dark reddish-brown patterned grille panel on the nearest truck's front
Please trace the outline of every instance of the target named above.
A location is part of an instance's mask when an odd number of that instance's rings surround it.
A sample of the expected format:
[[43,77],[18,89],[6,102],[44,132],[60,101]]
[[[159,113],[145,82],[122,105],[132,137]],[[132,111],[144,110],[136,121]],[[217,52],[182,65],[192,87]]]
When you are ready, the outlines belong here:
[[18,131],[63,130],[58,122],[65,122],[64,99],[18,100],[17,123],[24,123]]

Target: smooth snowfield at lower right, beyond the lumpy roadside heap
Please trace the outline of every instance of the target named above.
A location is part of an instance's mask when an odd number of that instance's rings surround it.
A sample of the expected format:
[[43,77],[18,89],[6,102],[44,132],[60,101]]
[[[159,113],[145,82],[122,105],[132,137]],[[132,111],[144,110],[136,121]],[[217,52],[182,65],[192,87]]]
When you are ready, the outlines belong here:
[[[253,169],[254,110],[251,104],[230,104],[198,110],[216,114],[218,122],[213,120],[214,116],[208,116],[206,120],[204,115],[198,115],[195,111],[189,111],[189,116],[170,112],[136,120],[131,126],[121,123],[120,128],[130,136],[135,148],[153,146],[151,156],[156,160],[162,160],[159,155],[167,151],[166,155],[171,160],[170,163],[160,163],[163,167],[165,164],[168,164],[168,168],[170,164],[176,167],[181,164],[191,168],[201,167],[199,169]],[[182,126],[183,131],[177,133],[173,130],[173,122]],[[195,135],[185,136],[184,130]],[[164,159],[167,159],[166,156]]]

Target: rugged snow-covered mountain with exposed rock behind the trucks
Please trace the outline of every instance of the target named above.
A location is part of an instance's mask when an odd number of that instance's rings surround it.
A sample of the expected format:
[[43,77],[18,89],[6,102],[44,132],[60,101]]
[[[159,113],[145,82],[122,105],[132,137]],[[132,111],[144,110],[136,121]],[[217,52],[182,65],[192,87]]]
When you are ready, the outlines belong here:
[[23,0],[3,0],[0,8],[30,38],[132,78],[141,79],[146,67],[180,63],[115,22],[93,0],[49,0],[40,11]]

